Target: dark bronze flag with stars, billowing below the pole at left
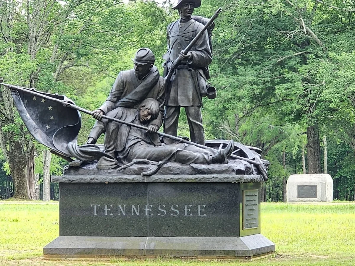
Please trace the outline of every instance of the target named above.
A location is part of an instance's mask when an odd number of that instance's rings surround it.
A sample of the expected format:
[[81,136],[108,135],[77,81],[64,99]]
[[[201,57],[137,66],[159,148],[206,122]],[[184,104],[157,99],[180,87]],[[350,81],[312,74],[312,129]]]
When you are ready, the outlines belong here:
[[[38,92],[34,89],[11,90],[11,95],[32,136],[51,150],[70,156],[65,144],[76,141],[81,127],[80,113],[64,105],[65,102],[72,101],[65,95]],[[60,145],[56,145],[58,143]]]

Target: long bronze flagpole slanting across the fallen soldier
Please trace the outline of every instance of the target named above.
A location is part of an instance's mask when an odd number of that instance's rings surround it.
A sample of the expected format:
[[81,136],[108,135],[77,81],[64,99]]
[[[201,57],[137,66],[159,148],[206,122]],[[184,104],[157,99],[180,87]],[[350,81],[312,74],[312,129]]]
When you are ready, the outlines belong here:
[[[9,88],[11,90],[20,90],[21,92],[26,92],[26,93],[41,97],[43,99],[47,99],[47,100],[50,100],[50,101],[58,102],[58,103],[61,103],[62,105],[66,106],[66,107],[81,111],[83,113],[87,113],[88,115],[91,115],[91,116],[93,115],[92,111],[84,109],[84,108],[82,108],[80,106],[77,106],[77,105],[72,104],[70,102],[67,102],[65,100],[59,100],[59,99],[53,98],[51,96],[39,93],[35,89],[32,89],[32,88],[23,88],[23,87],[18,87],[18,86],[11,85],[11,84],[6,84],[6,83],[0,83],[0,85],[3,85],[3,86],[5,86],[5,87],[7,87],[7,88]],[[148,131],[147,127],[144,127],[144,126],[141,126],[141,125],[137,125],[137,124],[133,124],[133,123],[130,123],[130,122],[126,122],[126,121],[123,121],[123,120],[120,120],[120,119],[117,119],[117,118],[109,117],[109,116],[106,116],[106,115],[102,115],[102,118],[105,118],[107,120],[114,121],[114,122],[117,122],[117,123],[125,124],[127,126],[136,127],[136,128],[140,128],[140,129]],[[202,148],[202,149],[209,148],[207,146],[204,146],[204,145],[201,145],[201,144],[198,144],[198,143],[195,143],[195,142],[191,142],[189,140],[185,140],[185,139],[173,136],[173,135],[165,134],[165,133],[162,133],[162,132],[155,132],[155,133],[160,135],[160,136],[163,136],[163,137],[166,137],[166,138],[170,138],[170,139],[173,139],[173,140],[176,140],[176,141],[179,141],[179,142],[183,142],[183,143],[190,144],[190,145],[195,145],[195,146],[197,146],[199,148]],[[232,154],[230,157],[232,157],[234,159],[240,159],[240,160],[247,161],[247,162],[249,162],[249,163],[251,163],[253,165],[256,165],[256,166],[260,165],[260,163],[257,162],[257,161],[253,161],[253,160],[250,160],[250,159],[238,156],[238,155]]]

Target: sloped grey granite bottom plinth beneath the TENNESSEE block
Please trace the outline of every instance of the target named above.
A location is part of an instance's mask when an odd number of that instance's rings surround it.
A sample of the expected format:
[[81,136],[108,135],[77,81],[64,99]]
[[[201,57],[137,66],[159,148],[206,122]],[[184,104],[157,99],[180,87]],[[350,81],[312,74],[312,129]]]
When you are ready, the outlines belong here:
[[275,252],[261,234],[245,237],[77,237],[61,236],[43,248],[44,259],[133,259],[189,257],[252,259]]

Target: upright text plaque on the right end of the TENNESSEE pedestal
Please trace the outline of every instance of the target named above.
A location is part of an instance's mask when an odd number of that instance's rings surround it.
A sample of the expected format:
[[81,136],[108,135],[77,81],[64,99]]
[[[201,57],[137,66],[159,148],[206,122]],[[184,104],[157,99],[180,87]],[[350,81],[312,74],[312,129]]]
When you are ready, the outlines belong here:
[[243,190],[243,230],[258,228],[259,190]]

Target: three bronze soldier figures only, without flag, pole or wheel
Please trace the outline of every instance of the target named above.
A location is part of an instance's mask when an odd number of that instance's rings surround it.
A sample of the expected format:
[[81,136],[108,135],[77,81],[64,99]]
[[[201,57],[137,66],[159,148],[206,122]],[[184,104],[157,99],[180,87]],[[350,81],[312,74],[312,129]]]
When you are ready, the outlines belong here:
[[[202,97],[207,94],[212,47],[208,31],[203,31],[205,25],[198,22],[202,17],[196,17],[195,20],[192,16],[193,10],[200,5],[200,0],[179,0],[174,6],[179,11],[180,19],[167,27],[168,51],[163,55],[164,77],[159,75],[154,66],[153,52],[141,48],[132,59],[134,68],[118,74],[107,100],[93,112],[97,121],[88,136],[87,144],[95,144],[100,135],[105,133],[103,151],[108,155],[98,160],[97,168],[116,168],[140,159],[183,164],[228,162],[234,148],[233,140],[225,149],[218,151],[176,143],[165,137],[159,140],[155,134],[164,124],[164,133],[176,136],[180,109],[184,107],[191,141],[204,145],[201,107]],[[202,34],[195,38],[199,32]],[[192,46],[185,54],[182,50],[189,44]],[[176,60],[179,64],[172,68]],[[103,115],[147,126],[148,130],[103,119]],[[80,161],[71,163],[72,166],[78,164]]]

